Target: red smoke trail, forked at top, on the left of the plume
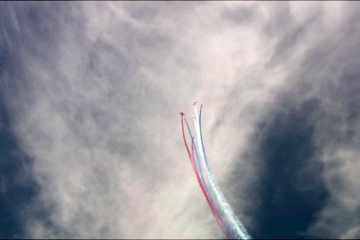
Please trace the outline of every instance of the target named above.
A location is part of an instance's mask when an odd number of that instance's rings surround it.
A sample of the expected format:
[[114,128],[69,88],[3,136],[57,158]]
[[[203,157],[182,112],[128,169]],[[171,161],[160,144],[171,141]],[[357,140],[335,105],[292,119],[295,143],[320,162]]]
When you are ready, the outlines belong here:
[[183,117],[181,116],[182,138],[183,138],[183,141],[184,141],[184,144],[185,144],[185,147],[186,147],[187,154],[188,154],[188,156],[189,156],[189,158],[190,158],[190,162],[191,162],[192,168],[193,168],[193,170],[194,170],[194,172],[195,172],[195,174],[196,174],[197,181],[198,181],[198,183],[199,183],[199,185],[200,185],[200,188],[201,188],[201,190],[202,190],[202,193],[204,194],[204,196],[205,196],[205,198],[206,198],[207,204],[209,205],[209,207],[210,207],[210,209],[211,209],[211,212],[212,212],[212,214],[214,215],[214,217],[215,217],[215,219],[216,219],[217,224],[220,226],[222,232],[226,235],[226,238],[227,238],[227,239],[231,239],[231,238],[229,237],[229,235],[227,234],[227,232],[225,231],[225,229],[224,229],[224,227],[223,227],[223,225],[222,225],[222,222],[220,221],[220,216],[219,216],[218,212],[215,210],[215,207],[211,204],[210,199],[209,199],[209,196],[208,196],[207,192],[205,191],[205,188],[204,188],[204,186],[203,186],[203,183],[202,183],[202,181],[201,181],[201,179],[200,179],[200,175],[199,175],[199,173],[198,173],[198,170],[197,170],[197,167],[196,167],[196,164],[195,164],[195,157],[194,157],[194,152],[193,152],[193,151],[194,151],[194,142],[193,142],[193,140],[191,140],[191,153],[190,153],[190,151],[189,151],[189,149],[188,149],[188,146],[187,146],[187,143],[186,143],[186,139],[185,139],[185,133],[184,133],[184,130],[183,130],[183,119],[182,119],[182,118],[183,118]]

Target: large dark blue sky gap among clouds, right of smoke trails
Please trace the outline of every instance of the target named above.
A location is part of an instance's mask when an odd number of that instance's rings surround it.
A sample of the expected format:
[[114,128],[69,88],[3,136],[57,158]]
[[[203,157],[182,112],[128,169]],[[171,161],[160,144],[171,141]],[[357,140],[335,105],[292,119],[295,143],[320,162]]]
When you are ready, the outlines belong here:
[[256,190],[251,189],[258,192],[261,202],[255,207],[254,237],[306,237],[300,232],[315,221],[316,213],[325,205],[329,193],[312,139],[311,116],[318,107],[318,99],[309,99],[298,107],[275,112],[270,116],[273,119],[260,123],[254,133],[261,136],[255,140],[259,182]]

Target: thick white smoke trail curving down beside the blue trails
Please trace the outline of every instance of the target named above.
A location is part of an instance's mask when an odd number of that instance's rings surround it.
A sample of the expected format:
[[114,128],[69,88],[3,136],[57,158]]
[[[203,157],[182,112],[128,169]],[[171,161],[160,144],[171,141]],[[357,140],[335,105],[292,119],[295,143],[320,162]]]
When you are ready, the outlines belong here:
[[[196,117],[196,119],[194,118],[194,123],[195,123],[196,134],[198,136],[197,137],[198,147],[199,147],[200,155],[203,159],[203,162],[205,163],[206,174],[209,178],[211,188],[212,188],[213,192],[215,193],[215,196],[216,196],[216,199],[217,199],[219,205],[221,206],[221,210],[225,214],[226,219],[230,222],[230,226],[234,230],[236,236],[241,239],[251,239],[251,236],[247,233],[245,227],[242,225],[240,220],[236,217],[234,212],[231,210],[229,204],[225,200],[222,192],[220,191],[220,189],[210,171],[210,168],[207,163],[207,159],[205,157],[205,151],[204,151],[204,147],[203,147],[202,134],[201,134],[201,124],[200,124],[199,118],[197,116],[197,109],[196,109],[195,103],[196,102],[194,101],[193,105],[194,105],[195,117]],[[201,107],[200,107],[200,113],[201,113],[201,109],[202,109],[202,103],[201,103]],[[201,115],[200,115],[200,117],[201,117]],[[198,124],[196,124],[196,122]]]

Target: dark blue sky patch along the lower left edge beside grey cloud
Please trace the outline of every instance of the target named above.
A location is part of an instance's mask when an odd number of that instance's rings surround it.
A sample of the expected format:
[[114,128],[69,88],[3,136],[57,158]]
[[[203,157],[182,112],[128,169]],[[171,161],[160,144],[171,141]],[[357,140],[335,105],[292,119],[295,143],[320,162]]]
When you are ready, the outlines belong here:
[[30,157],[21,152],[8,131],[6,107],[0,101],[0,238],[24,238],[26,209],[39,194]]

